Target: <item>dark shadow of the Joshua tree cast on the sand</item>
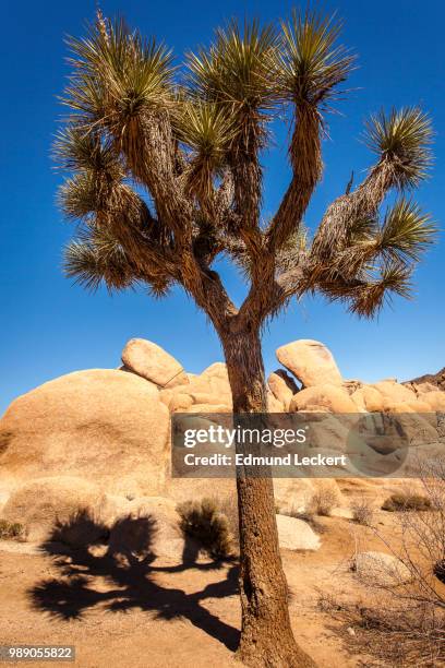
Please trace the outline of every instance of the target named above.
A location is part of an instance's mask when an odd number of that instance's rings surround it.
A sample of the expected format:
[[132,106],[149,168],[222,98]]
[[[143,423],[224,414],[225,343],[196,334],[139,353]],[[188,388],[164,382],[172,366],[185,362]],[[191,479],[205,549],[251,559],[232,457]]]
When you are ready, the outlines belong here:
[[[110,612],[141,609],[155,613],[156,619],[184,618],[234,651],[239,630],[202,604],[207,598],[238,593],[238,565],[229,562],[225,578],[207,584],[200,592],[187,594],[166,587],[157,582],[158,575],[189,569],[222,571],[225,563],[199,563],[196,545],[185,540],[182,563],[154,565],[156,532],[156,520],[152,516],[128,516],[109,530],[85,512],[65,524],[58,523],[41,548],[55,558],[60,577],[44,580],[29,589],[33,607],[63,620],[81,619],[96,606],[105,606]],[[87,537],[84,545],[80,545],[82,536]]]

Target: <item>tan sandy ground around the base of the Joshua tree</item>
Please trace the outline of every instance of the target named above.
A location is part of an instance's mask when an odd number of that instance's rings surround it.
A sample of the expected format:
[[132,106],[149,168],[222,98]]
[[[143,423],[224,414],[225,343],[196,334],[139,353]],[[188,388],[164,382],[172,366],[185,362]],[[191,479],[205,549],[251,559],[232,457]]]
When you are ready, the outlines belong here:
[[[353,493],[353,485],[345,481],[344,490]],[[365,493],[375,500],[375,487]],[[383,533],[390,535],[393,522],[392,514],[378,513]],[[321,667],[370,666],[366,657],[348,652],[317,599],[334,584],[350,593],[359,587],[348,570],[357,540],[362,549],[386,550],[349,520],[321,523],[325,533],[317,552],[282,551],[296,636]],[[232,653],[240,628],[236,564],[175,566],[156,560],[129,565],[100,554],[61,557],[0,541],[0,644],[75,645],[74,665],[82,668],[240,665]]]

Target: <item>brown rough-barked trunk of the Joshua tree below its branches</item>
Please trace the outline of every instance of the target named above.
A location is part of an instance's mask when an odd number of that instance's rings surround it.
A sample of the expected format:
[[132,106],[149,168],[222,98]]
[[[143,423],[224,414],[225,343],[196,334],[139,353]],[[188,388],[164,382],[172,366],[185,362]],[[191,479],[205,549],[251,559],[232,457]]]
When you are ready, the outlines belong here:
[[[266,386],[257,332],[222,339],[233,414],[266,413]],[[237,476],[240,523],[241,641],[238,657],[255,668],[315,666],[297,645],[288,610],[270,476]]]

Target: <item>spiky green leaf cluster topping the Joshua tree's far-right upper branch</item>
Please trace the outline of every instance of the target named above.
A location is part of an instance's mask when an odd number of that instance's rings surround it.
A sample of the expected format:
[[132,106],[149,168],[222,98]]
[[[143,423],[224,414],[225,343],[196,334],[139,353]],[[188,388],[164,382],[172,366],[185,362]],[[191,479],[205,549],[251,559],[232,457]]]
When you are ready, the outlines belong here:
[[394,184],[414,188],[428,175],[432,163],[432,126],[418,107],[372,116],[365,127],[365,142],[381,160],[390,166]]

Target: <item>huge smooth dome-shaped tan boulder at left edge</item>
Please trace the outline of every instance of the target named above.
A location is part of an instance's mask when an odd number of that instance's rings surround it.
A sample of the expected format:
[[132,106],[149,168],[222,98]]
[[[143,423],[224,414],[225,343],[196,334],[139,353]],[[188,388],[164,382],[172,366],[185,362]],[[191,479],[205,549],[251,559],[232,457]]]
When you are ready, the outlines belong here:
[[156,494],[169,460],[169,413],[133,373],[76,371],[15,399],[0,420],[0,490],[72,475],[110,493]]

